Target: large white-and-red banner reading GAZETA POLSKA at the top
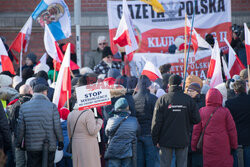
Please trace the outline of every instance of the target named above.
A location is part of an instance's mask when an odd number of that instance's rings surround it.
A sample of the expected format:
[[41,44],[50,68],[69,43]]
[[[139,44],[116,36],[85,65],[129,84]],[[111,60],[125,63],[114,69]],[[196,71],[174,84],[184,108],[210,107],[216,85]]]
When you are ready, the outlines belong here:
[[[159,0],[165,8],[164,13],[156,13],[152,7],[141,1],[128,1],[133,20],[138,53],[166,53],[177,37],[184,38],[185,14],[191,19],[195,12],[194,28],[204,38],[211,33],[220,47],[226,46],[224,38],[231,41],[231,0]],[[108,1],[110,44],[113,43],[122,16],[122,1]]]

